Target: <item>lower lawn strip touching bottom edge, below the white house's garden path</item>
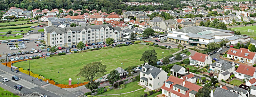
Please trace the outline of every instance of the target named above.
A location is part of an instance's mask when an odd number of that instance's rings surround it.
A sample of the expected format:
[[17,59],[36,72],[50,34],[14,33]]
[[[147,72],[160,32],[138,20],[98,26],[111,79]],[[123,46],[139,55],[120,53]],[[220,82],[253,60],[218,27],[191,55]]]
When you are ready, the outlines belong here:
[[139,91],[122,94],[122,95],[109,95],[109,96],[104,96],[104,97],[140,97],[140,95],[143,95],[144,93],[146,93],[146,92],[144,92],[145,89],[146,88],[143,88],[143,89],[140,89]]

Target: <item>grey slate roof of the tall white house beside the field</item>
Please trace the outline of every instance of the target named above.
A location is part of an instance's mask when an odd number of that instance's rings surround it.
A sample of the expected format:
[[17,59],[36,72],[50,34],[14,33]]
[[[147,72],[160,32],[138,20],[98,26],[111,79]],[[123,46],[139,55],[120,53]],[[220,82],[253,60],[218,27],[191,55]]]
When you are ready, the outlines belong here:
[[142,71],[142,69],[140,69],[140,72],[143,72],[145,74],[151,74],[153,76],[153,78],[156,78],[156,76],[162,71],[160,70],[160,68],[151,66],[151,65],[144,65],[143,67],[148,68],[146,72]]

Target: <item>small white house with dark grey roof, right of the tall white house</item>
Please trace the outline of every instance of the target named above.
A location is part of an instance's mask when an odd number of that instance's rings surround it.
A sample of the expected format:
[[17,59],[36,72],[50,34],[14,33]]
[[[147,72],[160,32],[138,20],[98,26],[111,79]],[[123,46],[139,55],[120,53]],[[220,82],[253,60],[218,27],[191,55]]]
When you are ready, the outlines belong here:
[[170,69],[170,74],[172,75],[172,76],[181,76],[182,74],[186,74],[186,73],[188,73],[188,71],[186,72],[186,69],[184,68],[184,67],[182,67],[182,66],[180,66],[180,65],[174,65],[173,67],[172,67],[172,69]]

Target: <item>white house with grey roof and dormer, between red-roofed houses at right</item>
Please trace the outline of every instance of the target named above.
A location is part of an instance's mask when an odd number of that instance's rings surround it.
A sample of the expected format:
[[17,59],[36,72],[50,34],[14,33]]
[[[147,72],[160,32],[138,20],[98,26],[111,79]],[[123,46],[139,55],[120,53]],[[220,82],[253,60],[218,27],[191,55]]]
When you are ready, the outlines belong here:
[[210,69],[212,72],[215,73],[223,73],[225,71],[228,71],[229,73],[232,73],[235,71],[235,65],[234,62],[229,63],[224,60],[216,61],[212,64],[210,64]]

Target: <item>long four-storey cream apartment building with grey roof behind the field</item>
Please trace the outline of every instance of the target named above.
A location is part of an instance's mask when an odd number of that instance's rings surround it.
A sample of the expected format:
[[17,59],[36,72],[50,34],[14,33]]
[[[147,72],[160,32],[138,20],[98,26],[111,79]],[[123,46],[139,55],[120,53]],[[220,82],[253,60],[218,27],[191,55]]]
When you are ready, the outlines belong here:
[[50,46],[71,46],[78,42],[94,43],[106,41],[106,38],[120,40],[122,30],[120,27],[107,25],[92,25],[82,27],[60,28],[55,25],[44,28],[44,41]]

